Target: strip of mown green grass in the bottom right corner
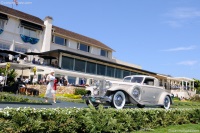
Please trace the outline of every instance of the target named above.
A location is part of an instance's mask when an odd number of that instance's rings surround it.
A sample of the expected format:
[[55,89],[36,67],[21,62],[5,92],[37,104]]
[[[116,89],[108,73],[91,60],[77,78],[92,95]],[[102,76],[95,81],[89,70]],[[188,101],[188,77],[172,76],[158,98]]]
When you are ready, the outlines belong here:
[[146,131],[137,131],[137,133],[200,133],[199,124],[183,124],[168,127],[160,127],[156,129],[146,129]]

